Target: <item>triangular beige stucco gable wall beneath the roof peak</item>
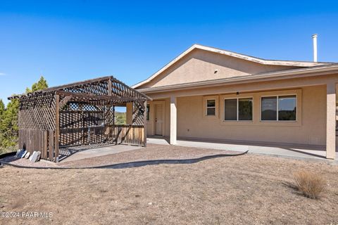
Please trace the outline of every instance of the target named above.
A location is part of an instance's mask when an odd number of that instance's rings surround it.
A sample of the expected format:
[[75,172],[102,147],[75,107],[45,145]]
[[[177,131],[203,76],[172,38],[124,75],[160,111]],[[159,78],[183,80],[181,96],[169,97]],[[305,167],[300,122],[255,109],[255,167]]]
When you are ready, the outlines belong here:
[[[210,79],[236,77],[261,72],[289,70],[296,67],[282,65],[262,65],[248,60],[224,56],[218,53],[195,49],[177,61],[173,66],[158,75],[151,82],[139,86],[166,86],[184,84],[187,82],[200,82]],[[215,73],[215,70],[218,72]]]

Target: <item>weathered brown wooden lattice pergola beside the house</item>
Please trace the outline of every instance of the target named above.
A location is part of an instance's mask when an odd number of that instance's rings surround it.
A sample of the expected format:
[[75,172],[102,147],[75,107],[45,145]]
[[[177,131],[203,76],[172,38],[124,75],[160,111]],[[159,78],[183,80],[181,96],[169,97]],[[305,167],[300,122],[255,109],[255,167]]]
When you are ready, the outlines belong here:
[[[19,148],[58,162],[60,148],[127,143],[146,146],[148,96],[115,77],[55,86],[18,98]],[[115,106],[132,103],[132,124],[115,124]]]

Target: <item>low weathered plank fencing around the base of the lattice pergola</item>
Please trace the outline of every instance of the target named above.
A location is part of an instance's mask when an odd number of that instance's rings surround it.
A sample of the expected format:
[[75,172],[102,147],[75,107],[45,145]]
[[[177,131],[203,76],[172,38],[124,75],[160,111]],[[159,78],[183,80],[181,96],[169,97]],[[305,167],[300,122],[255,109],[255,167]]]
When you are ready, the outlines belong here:
[[[55,131],[19,130],[19,148],[25,148],[30,154],[38,150],[42,159],[53,160]],[[146,143],[143,125],[111,125],[106,127],[65,128],[60,130],[60,148],[84,146],[94,143],[144,146]]]

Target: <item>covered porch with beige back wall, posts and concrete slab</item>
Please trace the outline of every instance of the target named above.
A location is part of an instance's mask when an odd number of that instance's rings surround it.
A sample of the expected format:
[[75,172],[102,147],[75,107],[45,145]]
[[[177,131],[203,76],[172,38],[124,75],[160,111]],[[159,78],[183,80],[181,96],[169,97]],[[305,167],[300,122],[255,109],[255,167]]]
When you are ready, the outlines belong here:
[[[171,145],[219,147],[253,153],[292,157],[337,159],[336,107],[337,77],[309,77],[278,82],[257,82],[230,86],[145,91],[150,102],[147,117],[149,137],[164,138]],[[296,120],[261,120],[262,96],[296,96]],[[253,99],[249,122],[225,122],[225,98]],[[215,117],[207,117],[206,100],[215,99]],[[160,112],[160,113],[158,113]],[[149,139],[157,143],[158,139]],[[161,142],[161,141],[160,141]],[[163,143],[163,142],[162,142]],[[165,143],[165,142],[164,142]],[[196,143],[196,145],[195,145]],[[198,143],[198,144],[197,144]]]

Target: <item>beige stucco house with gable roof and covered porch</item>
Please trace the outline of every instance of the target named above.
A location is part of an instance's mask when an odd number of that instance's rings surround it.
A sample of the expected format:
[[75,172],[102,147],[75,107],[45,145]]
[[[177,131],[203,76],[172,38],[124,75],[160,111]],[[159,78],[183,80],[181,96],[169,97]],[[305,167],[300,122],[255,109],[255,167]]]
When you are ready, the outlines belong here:
[[195,44],[134,89],[148,136],[326,146],[336,151],[338,64],[264,60]]

